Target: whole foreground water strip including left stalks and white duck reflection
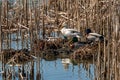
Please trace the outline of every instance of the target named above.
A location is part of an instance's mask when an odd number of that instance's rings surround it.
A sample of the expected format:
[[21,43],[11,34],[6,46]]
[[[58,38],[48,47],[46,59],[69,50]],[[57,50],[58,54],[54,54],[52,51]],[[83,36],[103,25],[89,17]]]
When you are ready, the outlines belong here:
[[41,59],[14,66],[1,62],[0,71],[2,72],[2,65],[5,67],[4,75],[0,74],[0,80],[5,78],[10,80],[94,80],[94,64],[89,62],[76,64],[73,65],[69,58],[54,61]]

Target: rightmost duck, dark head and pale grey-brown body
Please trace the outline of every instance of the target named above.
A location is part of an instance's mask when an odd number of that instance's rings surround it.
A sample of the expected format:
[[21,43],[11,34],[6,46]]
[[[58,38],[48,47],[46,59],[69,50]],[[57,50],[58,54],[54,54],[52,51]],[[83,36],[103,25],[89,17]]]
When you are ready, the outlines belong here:
[[91,29],[86,29],[86,39],[88,42],[97,42],[97,41],[104,41],[104,36],[98,33],[93,33]]

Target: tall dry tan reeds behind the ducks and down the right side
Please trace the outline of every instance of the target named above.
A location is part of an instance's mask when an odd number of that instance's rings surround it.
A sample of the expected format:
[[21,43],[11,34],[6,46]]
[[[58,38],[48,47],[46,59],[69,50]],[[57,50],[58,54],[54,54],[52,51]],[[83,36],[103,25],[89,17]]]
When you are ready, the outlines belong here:
[[[120,1],[118,0],[17,0],[10,5],[4,1],[1,5],[1,36],[6,39],[6,48],[11,48],[11,33],[22,37],[22,48],[29,44],[26,34],[30,35],[30,48],[34,40],[45,36],[59,36],[63,22],[77,28],[84,34],[86,28],[103,34],[108,41],[104,42],[103,57],[98,50],[97,80],[118,80],[120,76]],[[51,27],[52,26],[52,27]],[[6,35],[5,35],[6,34]],[[38,35],[41,34],[41,35]],[[1,37],[0,36],[0,37]],[[18,38],[18,37],[17,37]],[[27,40],[27,42],[26,42]],[[37,41],[38,43],[38,41]],[[2,45],[2,44],[0,44]],[[99,46],[99,49],[101,46]],[[39,53],[36,52],[35,55]],[[40,67],[40,66],[38,66]],[[39,68],[38,68],[39,69]],[[39,72],[39,70],[38,70]],[[114,76],[114,77],[112,77]]]

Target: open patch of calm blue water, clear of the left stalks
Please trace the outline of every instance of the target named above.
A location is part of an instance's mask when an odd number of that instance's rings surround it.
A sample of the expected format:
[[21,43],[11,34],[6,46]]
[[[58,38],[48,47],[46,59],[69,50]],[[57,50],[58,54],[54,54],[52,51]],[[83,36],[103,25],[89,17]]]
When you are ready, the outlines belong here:
[[[43,80],[94,80],[94,65],[90,64],[89,70],[83,67],[83,63],[79,65],[62,64],[61,59],[56,61],[42,61]],[[67,68],[65,68],[65,65]]]

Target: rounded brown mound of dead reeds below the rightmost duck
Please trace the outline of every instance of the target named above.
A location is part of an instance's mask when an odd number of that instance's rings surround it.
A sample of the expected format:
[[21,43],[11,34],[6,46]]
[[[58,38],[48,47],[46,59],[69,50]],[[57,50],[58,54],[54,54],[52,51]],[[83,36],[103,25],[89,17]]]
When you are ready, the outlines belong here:
[[[103,44],[101,44],[103,46]],[[100,52],[102,53],[103,47],[100,48]],[[71,55],[72,59],[91,59],[94,55],[97,54],[99,51],[99,45],[85,45],[74,51],[74,53]]]

